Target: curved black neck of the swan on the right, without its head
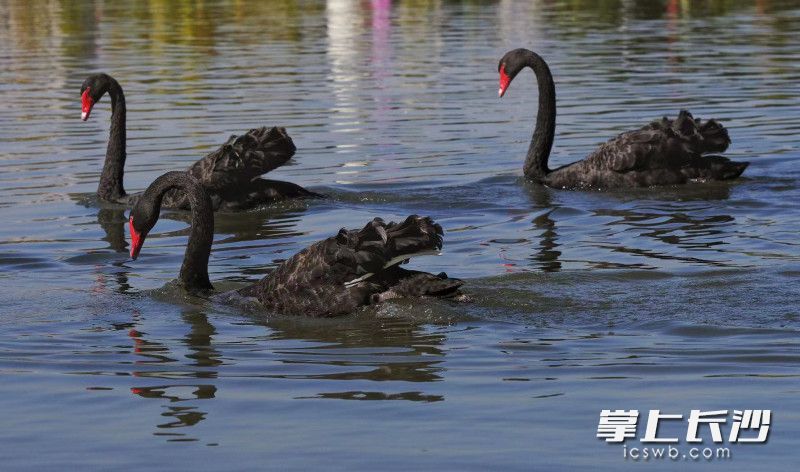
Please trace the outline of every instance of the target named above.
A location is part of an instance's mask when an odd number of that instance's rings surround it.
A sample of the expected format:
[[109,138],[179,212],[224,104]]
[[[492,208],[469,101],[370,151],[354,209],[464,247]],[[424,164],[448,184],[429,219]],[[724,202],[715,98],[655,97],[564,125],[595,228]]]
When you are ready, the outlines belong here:
[[528,51],[527,56],[525,65],[533,69],[539,84],[539,111],[523,170],[529,179],[542,180],[550,172],[547,159],[556,132],[556,86],[544,59],[532,51]]

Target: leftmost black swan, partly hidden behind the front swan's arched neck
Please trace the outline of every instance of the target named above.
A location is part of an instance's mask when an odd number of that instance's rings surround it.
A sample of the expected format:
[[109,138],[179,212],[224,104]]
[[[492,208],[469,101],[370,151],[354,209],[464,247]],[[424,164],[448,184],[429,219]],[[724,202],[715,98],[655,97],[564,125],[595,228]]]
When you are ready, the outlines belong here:
[[[125,193],[125,94],[108,74],[93,74],[81,85],[81,119],[86,121],[92,107],[108,93],[111,96],[111,132],[97,196],[100,200],[133,206],[140,194]],[[257,178],[285,164],[295,151],[283,128],[257,128],[233,135],[219,149],[186,170],[197,178],[211,196],[215,210],[235,211],[288,198],[320,197],[299,185]],[[188,209],[185,196],[175,192],[164,198],[170,208]]]

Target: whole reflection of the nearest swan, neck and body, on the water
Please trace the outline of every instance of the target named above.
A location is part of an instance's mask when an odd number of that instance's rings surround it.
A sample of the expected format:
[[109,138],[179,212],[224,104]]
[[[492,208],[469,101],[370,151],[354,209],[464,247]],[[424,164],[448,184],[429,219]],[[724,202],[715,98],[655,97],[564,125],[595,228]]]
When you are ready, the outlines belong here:
[[[293,382],[296,400],[445,399],[426,392],[424,384],[444,379],[446,335],[413,319],[376,320],[374,314],[336,323],[251,318],[264,331],[244,339],[221,338],[209,316],[197,308],[184,309],[181,319],[188,331],[174,343],[143,332],[147,322],[136,314],[131,323],[113,325],[115,330],[127,330],[133,342],[131,375],[139,382],[147,380],[130,392],[164,408],[160,416],[166,421],[157,423],[153,434],[168,441],[197,440],[189,430],[180,429],[208,419],[211,408],[204,406],[206,400],[229,401],[218,386],[229,377],[265,381],[264,392],[274,381]],[[156,379],[156,384],[150,382]],[[331,381],[342,388],[334,388]],[[408,388],[409,382],[415,387]],[[263,409],[270,408],[270,398],[265,395],[260,400]]]

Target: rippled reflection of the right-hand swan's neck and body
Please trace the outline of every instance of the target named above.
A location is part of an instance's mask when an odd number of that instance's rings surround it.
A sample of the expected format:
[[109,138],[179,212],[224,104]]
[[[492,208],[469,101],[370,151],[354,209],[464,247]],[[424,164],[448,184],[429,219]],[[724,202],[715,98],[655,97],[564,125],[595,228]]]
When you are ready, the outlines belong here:
[[[525,240],[531,246],[528,260],[539,270],[555,272],[574,263],[641,269],[652,268],[650,264],[658,264],[656,260],[726,265],[714,257],[700,258],[691,252],[724,251],[722,242],[726,234],[731,234],[735,220],[724,212],[709,215],[705,210],[719,208],[707,203],[727,199],[730,185],[710,182],[626,189],[606,192],[600,200],[586,194],[559,197],[558,191],[530,182],[520,188],[530,199],[530,221],[536,235]],[[588,211],[588,216],[582,210]],[[584,229],[559,231],[576,224]],[[587,240],[592,241],[588,246],[581,243]]]

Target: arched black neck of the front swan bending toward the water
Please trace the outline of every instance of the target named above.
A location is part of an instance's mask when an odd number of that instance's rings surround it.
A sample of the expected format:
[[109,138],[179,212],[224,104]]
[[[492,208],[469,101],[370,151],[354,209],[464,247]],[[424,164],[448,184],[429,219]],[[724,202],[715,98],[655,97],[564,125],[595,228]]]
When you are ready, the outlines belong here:
[[186,192],[192,210],[192,229],[179,279],[187,289],[210,290],[213,287],[208,279],[208,257],[214,241],[214,210],[200,183],[186,172],[167,172],[150,184],[142,195],[142,203],[150,205],[150,211],[158,212],[164,195],[173,189]]

